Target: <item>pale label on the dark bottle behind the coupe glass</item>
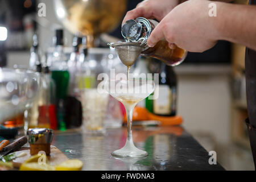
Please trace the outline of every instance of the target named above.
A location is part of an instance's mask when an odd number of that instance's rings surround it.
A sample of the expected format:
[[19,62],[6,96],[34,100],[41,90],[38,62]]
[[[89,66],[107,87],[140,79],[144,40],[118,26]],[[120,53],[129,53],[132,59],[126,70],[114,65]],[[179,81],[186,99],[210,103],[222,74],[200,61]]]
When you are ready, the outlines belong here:
[[154,113],[167,115],[171,113],[172,90],[168,85],[159,85],[155,89],[155,95],[158,96],[154,102]]

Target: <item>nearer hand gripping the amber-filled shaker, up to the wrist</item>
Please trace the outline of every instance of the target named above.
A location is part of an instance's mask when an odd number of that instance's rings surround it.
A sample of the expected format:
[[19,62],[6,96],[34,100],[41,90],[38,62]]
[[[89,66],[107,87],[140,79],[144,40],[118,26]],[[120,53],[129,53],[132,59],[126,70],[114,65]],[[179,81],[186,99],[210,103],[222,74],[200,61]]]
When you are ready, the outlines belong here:
[[[165,38],[170,47],[178,47],[190,52],[203,52],[212,48],[218,40],[216,18],[210,17],[210,1],[193,0],[181,3],[168,13],[152,31],[148,38],[149,47],[154,47]],[[218,2],[215,2],[218,8]]]

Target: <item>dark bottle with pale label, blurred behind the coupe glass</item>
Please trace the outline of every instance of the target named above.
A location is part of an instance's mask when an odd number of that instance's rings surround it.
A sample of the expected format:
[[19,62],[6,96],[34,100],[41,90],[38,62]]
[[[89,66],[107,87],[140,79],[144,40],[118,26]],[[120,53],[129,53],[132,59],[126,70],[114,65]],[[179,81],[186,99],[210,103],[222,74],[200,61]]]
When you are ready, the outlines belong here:
[[176,115],[177,77],[174,69],[164,63],[161,64],[159,85],[156,85],[154,97],[154,114],[168,117]]

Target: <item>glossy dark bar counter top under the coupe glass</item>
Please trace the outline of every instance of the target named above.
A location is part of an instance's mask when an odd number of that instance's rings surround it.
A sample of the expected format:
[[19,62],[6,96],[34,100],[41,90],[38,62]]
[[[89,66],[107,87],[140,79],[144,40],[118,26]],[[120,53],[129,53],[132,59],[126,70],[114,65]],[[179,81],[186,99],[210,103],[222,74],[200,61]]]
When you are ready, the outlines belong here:
[[114,158],[111,152],[124,146],[127,128],[108,129],[102,135],[82,129],[57,131],[52,145],[69,159],[80,159],[86,171],[126,170],[225,170],[210,165],[208,152],[180,126],[133,127],[134,144],[148,152],[144,158]]

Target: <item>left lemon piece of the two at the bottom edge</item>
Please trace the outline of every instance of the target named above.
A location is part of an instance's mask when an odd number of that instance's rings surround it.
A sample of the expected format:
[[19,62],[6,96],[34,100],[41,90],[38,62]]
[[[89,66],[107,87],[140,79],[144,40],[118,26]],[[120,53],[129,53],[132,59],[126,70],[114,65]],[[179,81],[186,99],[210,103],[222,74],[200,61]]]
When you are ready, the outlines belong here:
[[23,163],[20,166],[19,171],[55,171],[54,166],[49,164],[38,164],[38,163]]

